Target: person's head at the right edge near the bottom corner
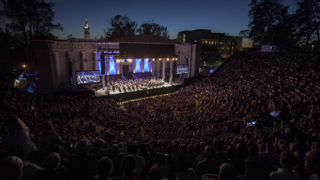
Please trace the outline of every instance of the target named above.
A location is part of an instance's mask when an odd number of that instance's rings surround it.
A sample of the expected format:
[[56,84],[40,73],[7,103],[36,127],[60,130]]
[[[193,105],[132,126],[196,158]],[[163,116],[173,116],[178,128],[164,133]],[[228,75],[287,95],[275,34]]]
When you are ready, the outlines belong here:
[[320,173],[320,152],[310,150],[305,154],[304,168],[312,174]]

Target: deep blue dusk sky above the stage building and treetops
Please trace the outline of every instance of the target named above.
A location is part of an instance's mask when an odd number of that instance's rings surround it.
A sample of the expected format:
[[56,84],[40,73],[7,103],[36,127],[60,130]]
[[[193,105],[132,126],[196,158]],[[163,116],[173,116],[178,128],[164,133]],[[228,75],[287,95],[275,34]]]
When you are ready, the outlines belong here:
[[[289,13],[296,9],[297,0],[284,0],[290,5]],[[108,20],[115,15],[126,15],[138,26],[148,20],[168,28],[170,39],[178,32],[195,29],[211,29],[214,33],[239,36],[248,28],[248,4],[251,0],[47,0],[55,6],[54,23],[60,23],[63,31],[53,31],[60,40],[68,35],[83,39],[83,26],[88,20],[90,38],[100,38],[104,29],[110,27]],[[244,41],[244,46],[247,42]]]

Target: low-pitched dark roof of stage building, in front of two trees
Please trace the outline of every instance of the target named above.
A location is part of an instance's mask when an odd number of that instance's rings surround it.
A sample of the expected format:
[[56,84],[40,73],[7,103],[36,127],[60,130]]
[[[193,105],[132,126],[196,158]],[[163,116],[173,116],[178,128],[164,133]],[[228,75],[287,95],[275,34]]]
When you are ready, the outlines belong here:
[[113,38],[107,40],[107,42],[180,44],[178,41],[151,34]]

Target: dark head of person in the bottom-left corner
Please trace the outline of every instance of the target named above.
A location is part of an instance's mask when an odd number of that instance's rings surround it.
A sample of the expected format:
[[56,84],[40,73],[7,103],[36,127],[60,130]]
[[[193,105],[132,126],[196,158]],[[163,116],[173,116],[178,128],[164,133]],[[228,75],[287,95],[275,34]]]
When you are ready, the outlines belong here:
[[22,175],[23,162],[16,156],[9,156],[0,162],[0,179],[15,180]]

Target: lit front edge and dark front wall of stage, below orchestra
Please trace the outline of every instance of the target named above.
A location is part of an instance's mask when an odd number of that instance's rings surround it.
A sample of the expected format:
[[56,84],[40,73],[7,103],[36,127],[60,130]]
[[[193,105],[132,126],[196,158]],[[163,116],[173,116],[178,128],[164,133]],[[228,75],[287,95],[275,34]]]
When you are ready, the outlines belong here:
[[106,94],[105,93],[106,90],[103,90],[101,88],[94,93],[94,96],[98,98],[113,98],[113,99],[118,99],[122,97],[122,100],[129,100],[129,99],[136,99],[136,98],[172,93],[174,91],[177,91],[181,87],[182,87],[182,81],[178,80],[176,82],[172,82],[172,85],[170,85],[169,82],[165,82],[165,84],[162,87],[139,89],[135,91],[129,91],[129,92],[126,91],[121,93],[119,91],[115,91],[115,92],[111,91],[110,95]]

